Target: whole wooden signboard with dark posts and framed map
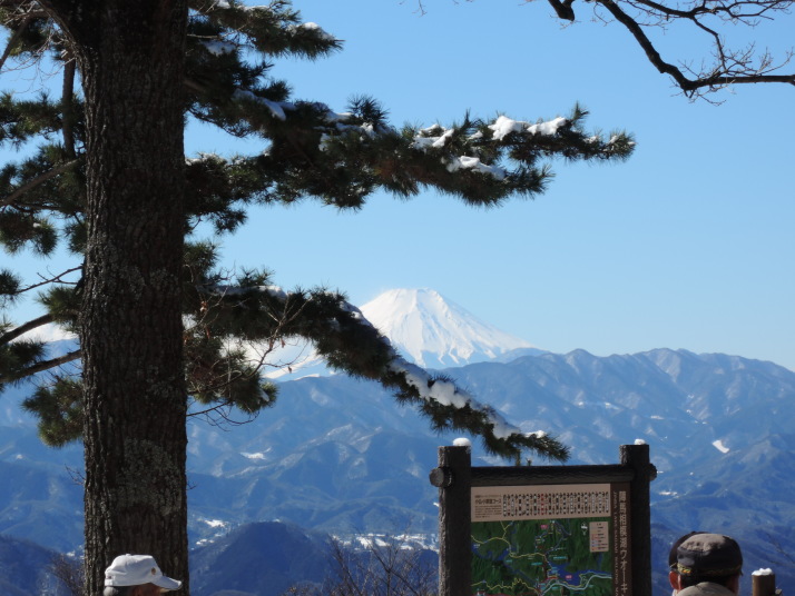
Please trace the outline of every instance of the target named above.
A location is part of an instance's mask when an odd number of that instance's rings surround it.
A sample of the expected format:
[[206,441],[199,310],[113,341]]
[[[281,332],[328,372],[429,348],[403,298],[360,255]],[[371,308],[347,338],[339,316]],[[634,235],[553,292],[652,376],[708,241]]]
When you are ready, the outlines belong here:
[[[469,447],[440,447],[430,475],[439,487],[439,595],[510,594],[516,568],[514,583],[536,582],[530,587],[544,594],[651,596],[657,470],[648,445],[622,445],[620,457],[606,466],[471,467]],[[492,540],[501,550],[490,550]]]

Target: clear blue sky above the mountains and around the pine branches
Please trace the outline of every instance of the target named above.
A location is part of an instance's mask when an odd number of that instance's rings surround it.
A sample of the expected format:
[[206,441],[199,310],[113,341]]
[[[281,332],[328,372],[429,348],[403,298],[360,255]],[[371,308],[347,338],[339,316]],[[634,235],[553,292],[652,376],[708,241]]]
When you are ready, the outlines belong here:
[[[581,10],[586,9],[582,2]],[[685,348],[795,370],[795,88],[677,95],[618,26],[561,28],[547,2],[296,0],[345,40],[315,62],[278,61],[296,99],[344,111],[359,95],[391,121],[442,125],[498,112],[566,116],[632,132],[616,165],[553,163],[534,200],[490,210],[433,192],[374,196],[357,212],[306,201],[253,211],[225,240],[229,265],[266,266],[285,289],[324,285],[362,305],[391,288],[432,288],[500,329],[556,352]],[[792,26],[792,18],[788,26]],[[789,43],[787,27],[759,44]],[[688,48],[669,33],[666,42]],[[198,127],[192,150],[257,151]]]

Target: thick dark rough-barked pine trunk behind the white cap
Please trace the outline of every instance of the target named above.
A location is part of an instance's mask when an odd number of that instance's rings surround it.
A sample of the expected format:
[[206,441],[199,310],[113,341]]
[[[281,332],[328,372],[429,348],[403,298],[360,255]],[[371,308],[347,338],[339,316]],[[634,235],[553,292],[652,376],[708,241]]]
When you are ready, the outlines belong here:
[[86,595],[124,553],[187,595],[184,0],[45,2],[78,57],[87,110]]

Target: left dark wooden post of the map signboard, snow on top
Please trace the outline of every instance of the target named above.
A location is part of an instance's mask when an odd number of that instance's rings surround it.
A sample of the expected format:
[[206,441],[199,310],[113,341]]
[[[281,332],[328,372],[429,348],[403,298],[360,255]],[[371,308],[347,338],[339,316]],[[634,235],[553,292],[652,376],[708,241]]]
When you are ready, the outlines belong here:
[[439,487],[439,596],[464,596],[472,589],[470,447],[440,447],[430,480]]

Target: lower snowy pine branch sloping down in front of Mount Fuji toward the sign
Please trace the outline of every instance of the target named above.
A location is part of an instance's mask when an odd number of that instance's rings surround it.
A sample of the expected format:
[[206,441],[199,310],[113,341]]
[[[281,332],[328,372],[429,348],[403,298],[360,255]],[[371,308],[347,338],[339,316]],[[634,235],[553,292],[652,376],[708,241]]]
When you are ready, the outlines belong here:
[[[284,292],[274,286],[198,288],[217,306],[217,320],[245,321],[252,341],[274,337],[311,340],[326,362],[347,375],[380,383],[399,401],[413,404],[436,429],[465,430],[480,436],[492,454],[516,458],[526,449],[566,460],[568,449],[543,433],[524,434],[490,406],[450,379],[434,377],[405,361],[354,306],[338,294],[323,290]],[[224,311],[227,314],[224,315]],[[229,319],[228,317],[234,317]],[[226,327],[227,332],[234,332]]]

